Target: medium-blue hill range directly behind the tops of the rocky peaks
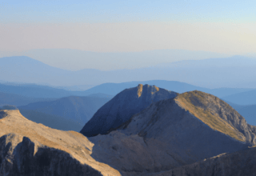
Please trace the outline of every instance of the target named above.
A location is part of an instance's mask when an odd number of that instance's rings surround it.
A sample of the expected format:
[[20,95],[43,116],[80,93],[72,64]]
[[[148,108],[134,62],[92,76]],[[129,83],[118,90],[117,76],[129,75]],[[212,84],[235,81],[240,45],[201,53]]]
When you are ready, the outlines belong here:
[[50,86],[40,86],[34,84],[14,84],[0,83],[0,104],[23,106],[30,102],[40,102],[54,100],[68,96],[93,96],[98,98],[113,98],[124,89],[138,86],[138,84],[149,84],[162,87],[166,90],[184,93],[186,91],[200,90],[209,94],[214,94],[225,101],[240,105],[256,104],[256,90],[245,88],[218,88],[207,89],[193,86],[184,82],[151,80],[145,82],[122,82],[104,83],[94,86],[85,91],[69,91],[53,88]]

